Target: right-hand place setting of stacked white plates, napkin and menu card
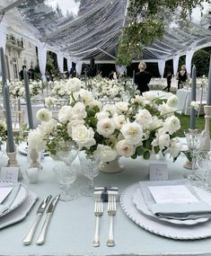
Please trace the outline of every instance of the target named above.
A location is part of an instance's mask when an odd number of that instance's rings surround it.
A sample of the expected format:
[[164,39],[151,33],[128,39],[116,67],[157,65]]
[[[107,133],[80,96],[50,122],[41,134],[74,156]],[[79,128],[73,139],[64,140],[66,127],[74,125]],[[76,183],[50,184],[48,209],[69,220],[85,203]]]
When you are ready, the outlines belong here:
[[176,240],[211,236],[211,194],[188,180],[136,182],[123,191],[120,204],[151,233]]

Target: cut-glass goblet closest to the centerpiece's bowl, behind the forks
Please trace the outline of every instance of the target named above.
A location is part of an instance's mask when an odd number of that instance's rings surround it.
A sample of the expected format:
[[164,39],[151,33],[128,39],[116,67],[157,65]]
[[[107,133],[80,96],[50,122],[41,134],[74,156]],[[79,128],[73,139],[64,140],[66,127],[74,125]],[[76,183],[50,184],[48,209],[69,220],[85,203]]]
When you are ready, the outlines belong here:
[[88,185],[81,189],[82,195],[86,197],[93,196],[93,178],[99,174],[101,156],[100,154],[86,154],[85,151],[80,151],[78,157],[81,163],[84,176],[89,179]]

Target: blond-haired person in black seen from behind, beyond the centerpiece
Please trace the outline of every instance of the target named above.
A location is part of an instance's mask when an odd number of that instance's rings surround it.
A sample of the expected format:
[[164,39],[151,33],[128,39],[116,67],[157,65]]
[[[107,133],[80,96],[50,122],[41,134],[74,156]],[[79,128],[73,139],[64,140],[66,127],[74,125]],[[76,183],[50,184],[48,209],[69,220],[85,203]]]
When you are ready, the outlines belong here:
[[144,61],[141,61],[138,65],[140,72],[135,74],[134,83],[137,85],[137,89],[140,91],[140,94],[149,91],[149,82],[152,78],[152,75],[145,71],[146,65]]

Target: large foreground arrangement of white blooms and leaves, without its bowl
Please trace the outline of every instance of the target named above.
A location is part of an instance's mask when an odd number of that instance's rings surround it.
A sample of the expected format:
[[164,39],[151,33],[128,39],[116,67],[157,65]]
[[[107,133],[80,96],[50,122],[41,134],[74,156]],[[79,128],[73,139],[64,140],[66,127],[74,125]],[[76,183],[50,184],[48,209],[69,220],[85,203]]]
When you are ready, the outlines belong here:
[[61,108],[57,119],[47,109],[38,111],[41,124],[29,134],[30,147],[57,156],[73,143],[86,154],[100,152],[103,163],[117,156],[149,159],[159,152],[170,154],[173,161],[179,156],[181,146],[174,135],[180,129],[180,119],[174,115],[177,96],[170,93],[169,99],[162,99],[147,92],[129,102],[102,107],[79,86],[70,90],[70,105]]

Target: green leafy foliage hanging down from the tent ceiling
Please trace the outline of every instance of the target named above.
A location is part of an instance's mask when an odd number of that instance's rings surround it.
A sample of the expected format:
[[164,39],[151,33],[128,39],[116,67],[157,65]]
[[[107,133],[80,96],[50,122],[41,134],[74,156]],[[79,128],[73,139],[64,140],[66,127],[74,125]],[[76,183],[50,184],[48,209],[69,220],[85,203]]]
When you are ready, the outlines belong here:
[[123,29],[119,40],[116,63],[129,65],[132,59],[142,56],[142,50],[164,32],[165,10],[175,13],[180,7],[180,16],[185,19],[192,9],[210,0],[130,0],[129,22]]

